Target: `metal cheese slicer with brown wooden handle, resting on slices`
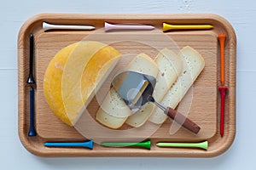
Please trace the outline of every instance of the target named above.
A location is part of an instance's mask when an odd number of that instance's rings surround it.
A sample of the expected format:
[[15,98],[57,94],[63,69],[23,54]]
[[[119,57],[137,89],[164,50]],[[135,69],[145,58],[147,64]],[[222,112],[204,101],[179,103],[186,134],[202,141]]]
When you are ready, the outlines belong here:
[[154,92],[155,83],[156,80],[152,76],[135,71],[124,71],[113,78],[112,85],[131,111],[136,112],[146,103],[152,102],[175,122],[181,124],[193,133],[198,133],[201,127],[195,124],[195,122],[190,121],[189,118],[183,116],[183,114],[175,111],[171,107],[161,105],[154,100],[152,94]]

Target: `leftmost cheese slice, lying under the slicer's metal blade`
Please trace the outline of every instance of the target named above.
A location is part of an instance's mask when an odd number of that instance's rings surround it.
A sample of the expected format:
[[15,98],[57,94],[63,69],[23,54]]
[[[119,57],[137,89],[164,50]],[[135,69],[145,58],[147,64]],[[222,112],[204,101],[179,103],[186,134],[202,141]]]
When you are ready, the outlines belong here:
[[[138,54],[135,59],[125,70],[137,71],[149,76],[157,77],[159,68],[154,60],[146,54]],[[121,127],[128,116],[133,114],[129,107],[125,105],[119,94],[111,88],[106,98],[103,100],[101,107],[96,113],[96,120],[110,128]]]

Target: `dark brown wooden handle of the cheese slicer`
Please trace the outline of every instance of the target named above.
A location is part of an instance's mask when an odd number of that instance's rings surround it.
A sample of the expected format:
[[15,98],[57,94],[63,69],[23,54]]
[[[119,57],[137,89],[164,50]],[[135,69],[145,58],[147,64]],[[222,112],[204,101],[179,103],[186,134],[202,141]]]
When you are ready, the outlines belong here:
[[183,127],[187,128],[193,133],[198,133],[201,129],[201,127],[195,124],[195,122],[190,121],[188,117],[183,116],[183,114],[175,111],[171,107],[167,107],[166,115],[171,117],[175,122],[181,124]]

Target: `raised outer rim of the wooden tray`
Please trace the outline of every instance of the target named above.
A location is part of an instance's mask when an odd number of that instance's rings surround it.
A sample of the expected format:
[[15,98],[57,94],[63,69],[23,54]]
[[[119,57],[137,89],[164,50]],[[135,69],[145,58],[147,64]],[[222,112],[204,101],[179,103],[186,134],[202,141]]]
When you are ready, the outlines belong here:
[[[31,144],[30,139],[36,140],[36,137],[27,137],[24,132],[24,125],[25,125],[25,119],[24,119],[24,111],[20,111],[20,107],[22,107],[22,110],[25,107],[25,102],[21,99],[22,94],[24,94],[24,88],[25,86],[21,84],[20,77],[23,77],[24,73],[22,72],[21,65],[25,65],[23,62],[23,49],[24,49],[24,39],[26,35],[26,31],[28,28],[33,26],[38,20],[214,20],[221,24],[227,32],[227,37],[230,38],[231,45],[234,46],[232,51],[232,55],[230,55],[230,59],[232,62],[230,62],[229,68],[232,68],[230,70],[232,74],[229,74],[230,82],[228,84],[229,93],[232,94],[232,98],[230,97],[229,102],[229,118],[230,122],[227,123],[230,128],[233,130],[231,133],[226,133],[224,135],[223,140],[224,144],[218,149],[218,150],[212,150],[207,152],[194,152],[189,154],[186,151],[182,153],[172,153],[172,151],[163,151],[163,150],[154,150],[154,152],[148,152],[148,151],[131,151],[125,150],[125,151],[119,151],[119,150],[107,150],[103,151],[101,153],[97,152],[96,150],[90,150],[90,152],[76,152],[76,153],[68,153],[68,152],[52,152],[49,153],[47,151],[38,150],[38,148]],[[223,17],[219,16],[218,14],[56,14],[56,13],[43,13],[43,14],[36,14],[25,21],[23,26],[20,27],[20,31],[18,34],[18,40],[17,40],[17,48],[18,48],[18,132],[20,137],[20,142],[24,145],[26,150],[30,151],[32,154],[36,156],[46,156],[46,157],[56,157],[56,156],[158,156],[158,157],[213,157],[223,154],[226,150],[228,150],[233,143],[235,137],[236,137],[236,33],[234,28],[230,25],[230,23],[225,20]],[[20,57],[22,56],[22,57]],[[22,59],[21,59],[22,58]],[[227,126],[227,125],[226,125]]]

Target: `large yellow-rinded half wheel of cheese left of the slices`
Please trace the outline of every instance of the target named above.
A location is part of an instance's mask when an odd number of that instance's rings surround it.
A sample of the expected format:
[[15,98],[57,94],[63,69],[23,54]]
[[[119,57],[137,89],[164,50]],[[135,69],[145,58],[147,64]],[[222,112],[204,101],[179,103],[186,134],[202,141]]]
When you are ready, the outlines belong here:
[[44,96],[55,116],[73,126],[119,55],[107,44],[92,41],[75,42],[55,54],[44,74]]

